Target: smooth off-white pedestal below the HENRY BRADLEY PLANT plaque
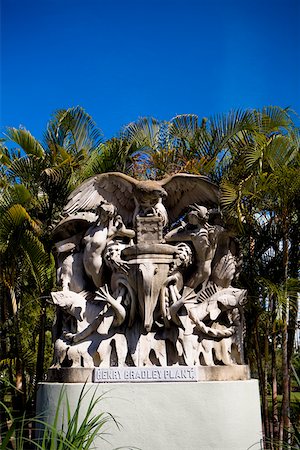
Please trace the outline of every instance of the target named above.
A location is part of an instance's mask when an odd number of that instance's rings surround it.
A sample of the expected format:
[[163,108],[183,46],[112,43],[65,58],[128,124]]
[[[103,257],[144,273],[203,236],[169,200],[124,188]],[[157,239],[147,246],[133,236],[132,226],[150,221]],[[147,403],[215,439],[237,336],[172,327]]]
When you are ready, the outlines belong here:
[[[75,409],[83,383],[40,383],[37,413],[53,421],[64,386]],[[104,394],[99,412],[120,423],[106,427],[96,449],[141,450],[258,450],[262,448],[257,380],[87,383],[82,415],[93,393]]]

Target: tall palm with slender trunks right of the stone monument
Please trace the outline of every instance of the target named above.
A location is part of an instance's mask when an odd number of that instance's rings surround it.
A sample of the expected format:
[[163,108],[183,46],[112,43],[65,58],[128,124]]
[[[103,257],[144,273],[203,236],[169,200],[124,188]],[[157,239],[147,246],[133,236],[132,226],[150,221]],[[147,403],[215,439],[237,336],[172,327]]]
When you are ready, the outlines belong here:
[[[265,436],[288,442],[290,362],[294,342],[297,310],[291,308],[291,296],[288,285],[291,283],[291,267],[296,262],[295,225],[299,224],[300,183],[299,171],[299,131],[295,128],[290,112],[280,108],[265,108],[253,111],[255,131],[244,133],[239,145],[232,152],[228,172],[222,180],[222,203],[225,212],[239,224],[248,240],[248,274],[250,293],[260,299],[260,307],[256,307],[257,321],[254,323],[254,346],[259,362],[260,386],[263,401],[263,417]],[[292,250],[293,249],[293,254]],[[291,257],[293,260],[291,261]],[[258,280],[264,277],[265,287]],[[267,280],[266,280],[267,278]],[[274,294],[269,287],[285,286],[285,295]],[[279,299],[285,299],[285,307]],[[277,302],[277,304],[276,304]],[[269,313],[266,316],[266,312]],[[277,311],[277,312],[276,312]],[[278,333],[276,317],[281,313],[280,341],[283,372],[283,401],[281,410],[280,433],[277,426],[276,410],[277,381],[275,367],[275,351]],[[253,310],[252,310],[253,313]],[[252,314],[253,315],[253,314]],[[260,321],[262,317],[262,321]],[[261,324],[261,325],[259,325]],[[263,351],[260,351],[259,326],[265,325]],[[268,325],[269,324],[269,325]],[[266,326],[267,325],[267,326]],[[274,328],[275,327],[275,328]],[[269,337],[272,347],[272,374],[269,375]],[[265,356],[262,362],[260,355]],[[269,378],[268,378],[269,377]],[[267,385],[272,379],[273,389],[273,427],[268,417]],[[273,445],[273,444],[271,444]]]

